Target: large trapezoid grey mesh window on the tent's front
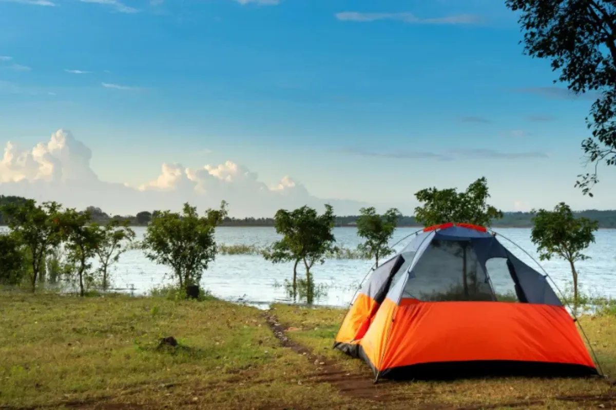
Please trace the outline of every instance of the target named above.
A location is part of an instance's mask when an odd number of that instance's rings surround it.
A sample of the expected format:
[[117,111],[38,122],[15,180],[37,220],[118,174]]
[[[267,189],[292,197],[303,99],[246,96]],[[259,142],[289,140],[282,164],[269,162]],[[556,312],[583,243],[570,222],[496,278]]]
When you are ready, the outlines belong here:
[[433,240],[408,273],[402,298],[494,301],[487,275],[469,241]]

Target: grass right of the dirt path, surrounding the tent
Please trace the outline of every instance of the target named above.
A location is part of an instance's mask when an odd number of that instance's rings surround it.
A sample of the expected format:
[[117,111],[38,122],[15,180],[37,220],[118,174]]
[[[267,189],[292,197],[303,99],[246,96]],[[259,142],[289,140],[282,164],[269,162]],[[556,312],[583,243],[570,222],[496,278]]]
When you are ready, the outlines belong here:
[[[310,307],[276,304],[272,310],[285,326],[293,326],[286,335],[323,357],[336,361],[351,374],[373,374],[365,362],[331,349],[339,324],[346,313],[343,309],[314,309]],[[616,315],[583,316],[580,318],[604,373],[616,376]],[[522,408],[602,408],[601,400],[587,403],[559,400],[559,396],[599,396],[614,392],[616,388],[601,379],[527,379],[501,378],[486,380],[458,380],[455,382],[413,382],[394,384],[393,390],[401,396],[418,397],[415,406],[490,406],[508,408],[506,404],[527,400]],[[614,396],[616,397],[616,396]],[[614,406],[614,397],[611,406]],[[535,403],[543,401],[543,403]],[[534,404],[533,404],[534,403]],[[411,403],[406,404],[413,408]],[[387,406],[396,408],[395,404]],[[519,404],[518,404],[519,406]],[[437,407],[435,407],[437,408]],[[607,407],[611,408],[611,407]]]

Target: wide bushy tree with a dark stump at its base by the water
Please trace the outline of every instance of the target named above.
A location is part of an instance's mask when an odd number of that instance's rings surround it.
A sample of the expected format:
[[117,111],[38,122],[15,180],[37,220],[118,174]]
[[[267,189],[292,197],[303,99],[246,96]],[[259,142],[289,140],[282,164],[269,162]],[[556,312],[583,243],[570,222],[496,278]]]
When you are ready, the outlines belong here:
[[227,203],[218,210],[208,209],[199,216],[196,207],[184,204],[182,214],[162,211],[152,219],[142,246],[145,256],[171,267],[180,289],[198,285],[203,270],[216,258],[214,231],[227,215]]

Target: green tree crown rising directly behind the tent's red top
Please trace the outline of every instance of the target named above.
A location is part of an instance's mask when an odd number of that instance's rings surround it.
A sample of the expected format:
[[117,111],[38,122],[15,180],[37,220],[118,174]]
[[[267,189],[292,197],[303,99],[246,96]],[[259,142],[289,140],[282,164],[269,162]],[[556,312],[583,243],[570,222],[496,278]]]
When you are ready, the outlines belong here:
[[464,192],[431,187],[416,192],[415,197],[423,203],[415,208],[415,219],[424,226],[455,222],[490,227],[493,219],[503,218],[502,211],[486,203],[490,194],[485,177],[474,181]]

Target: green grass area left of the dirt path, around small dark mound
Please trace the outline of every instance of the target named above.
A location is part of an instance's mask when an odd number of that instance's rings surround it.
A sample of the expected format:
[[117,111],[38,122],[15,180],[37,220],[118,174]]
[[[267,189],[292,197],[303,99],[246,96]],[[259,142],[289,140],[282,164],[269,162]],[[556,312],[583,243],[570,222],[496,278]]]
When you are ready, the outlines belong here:
[[[207,299],[0,294],[0,408],[71,402],[153,408],[338,408],[261,312]],[[158,350],[174,336],[182,347]],[[298,407],[299,406],[299,407]],[[86,406],[87,408],[87,406]]]

